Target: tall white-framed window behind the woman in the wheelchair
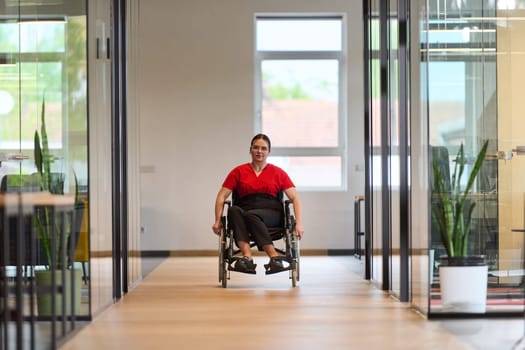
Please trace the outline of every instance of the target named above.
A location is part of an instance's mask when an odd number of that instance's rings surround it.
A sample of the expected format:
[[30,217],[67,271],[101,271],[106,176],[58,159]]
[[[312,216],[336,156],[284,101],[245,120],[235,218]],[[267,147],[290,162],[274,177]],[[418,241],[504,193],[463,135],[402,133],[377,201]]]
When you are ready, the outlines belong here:
[[257,16],[256,132],[297,187],[346,187],[342,16]]

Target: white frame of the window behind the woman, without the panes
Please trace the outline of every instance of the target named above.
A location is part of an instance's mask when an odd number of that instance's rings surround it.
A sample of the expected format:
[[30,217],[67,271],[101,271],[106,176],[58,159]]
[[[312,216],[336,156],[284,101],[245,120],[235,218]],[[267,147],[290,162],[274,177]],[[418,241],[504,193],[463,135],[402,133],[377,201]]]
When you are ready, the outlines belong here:
[[[260,19],[341,21],[341,50],[336,51],[258,51],[257,22]],[[281,157],[339,157],[341,159],[341,183],[338,186],[301,186],[308,191],[346,191],[348,177],[347,157],[347,45],[345,14],[255,14],[254,17],[254,126],[255,133],[262,129],[262,64],[270,60],[336,60],[338,62],[338,130],[337,146],[334,147],[279,147],[272,145],[271,156]],[[286,169],[285,169],[286,170]]]

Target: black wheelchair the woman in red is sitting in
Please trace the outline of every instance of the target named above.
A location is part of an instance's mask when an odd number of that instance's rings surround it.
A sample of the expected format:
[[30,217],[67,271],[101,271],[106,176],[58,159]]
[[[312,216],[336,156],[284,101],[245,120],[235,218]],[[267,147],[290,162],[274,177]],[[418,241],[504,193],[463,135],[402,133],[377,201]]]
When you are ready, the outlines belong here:
[[[275,245],[275,250],[281,254],[279,259],[284,263],[282,271],[288,271],[289,278],[292,281],[292,286],[296,287],[299,281],[299,259],[300,248],[299,238],[294,234],[295,232],[295,216],[293,214],[292,202],[284,199],[283,192],[279,192],[278,199],[282,203],[284,213],[284,224],[280,227],[268,227],[268,231]],[[230,279],[230,272],[235,271],[233,266],[237,260],[242,258],[240,249],[235,244],[233,236],[233,229],[228,222],[228,210],[238,200],[237,194],[232,193],[231,200],[224,202],[223,213],[221,216],[222,229],[219,236],[219,283],[223,288],[228,286]],[[277,244],[280,241],[280,245]],[[250,241],[250,247],[257,247],[258,251],[263,251],[262,247],[257,246],[257,243]],[[266,274],[268,274],[268,269]]]

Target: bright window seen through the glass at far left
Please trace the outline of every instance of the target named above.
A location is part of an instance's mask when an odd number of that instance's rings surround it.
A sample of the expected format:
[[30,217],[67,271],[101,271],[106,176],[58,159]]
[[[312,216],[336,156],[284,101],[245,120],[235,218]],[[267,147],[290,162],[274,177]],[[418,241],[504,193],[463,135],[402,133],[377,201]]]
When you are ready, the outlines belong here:
[[[64,21],[6,21],[0,23],[0,152],[4,157],[24,153],[28,161],[8,162],[2,172],[34,171],[34,132],[46,99],[50,149],[63,147],[62,90],[66,24]],[[38,33],[38,35],[36,35]],[[57,160],[56,164],[60,163]]]

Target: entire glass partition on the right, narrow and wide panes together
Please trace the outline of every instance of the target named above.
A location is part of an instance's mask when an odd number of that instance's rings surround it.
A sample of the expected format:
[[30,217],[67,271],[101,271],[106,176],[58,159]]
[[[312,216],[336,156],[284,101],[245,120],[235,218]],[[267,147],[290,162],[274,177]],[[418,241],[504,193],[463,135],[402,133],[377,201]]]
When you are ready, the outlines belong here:
[[[525,1],[411,1],[410,91],[400,91],[403,75],[397,43],[402,4],[366,1],[370,170],[367,234],[371,241],[371,279],[403,295],[410,273],[410,300],[421,312],[443,314],[439,266],[445,245],[431,215],[435,161],[453,180],[455,159],[464,151],[464,170],[456,176],[465,189],[468,174],[485,142],[479,175],[466,196],[474,204],[466,253],[488,262],[487,313],[523,312],[525,232],[525,78],[523,40]],[[409,10],[409,11],[408,11]],[[404,28],[404,27],[403,27]],[[419,50],[414,48],[419,45]],[[409,188],[398,185],[399,119],[410,96]],[[403,159],[405,160],[405,159]],[[406,193],[405,193],[406,192]],[[410,267],[403,267],[405,230],[398,195],[409,196]],[[401,228],[401,229],[400,229]],[[405,271],[409,270],[409,271]]]

